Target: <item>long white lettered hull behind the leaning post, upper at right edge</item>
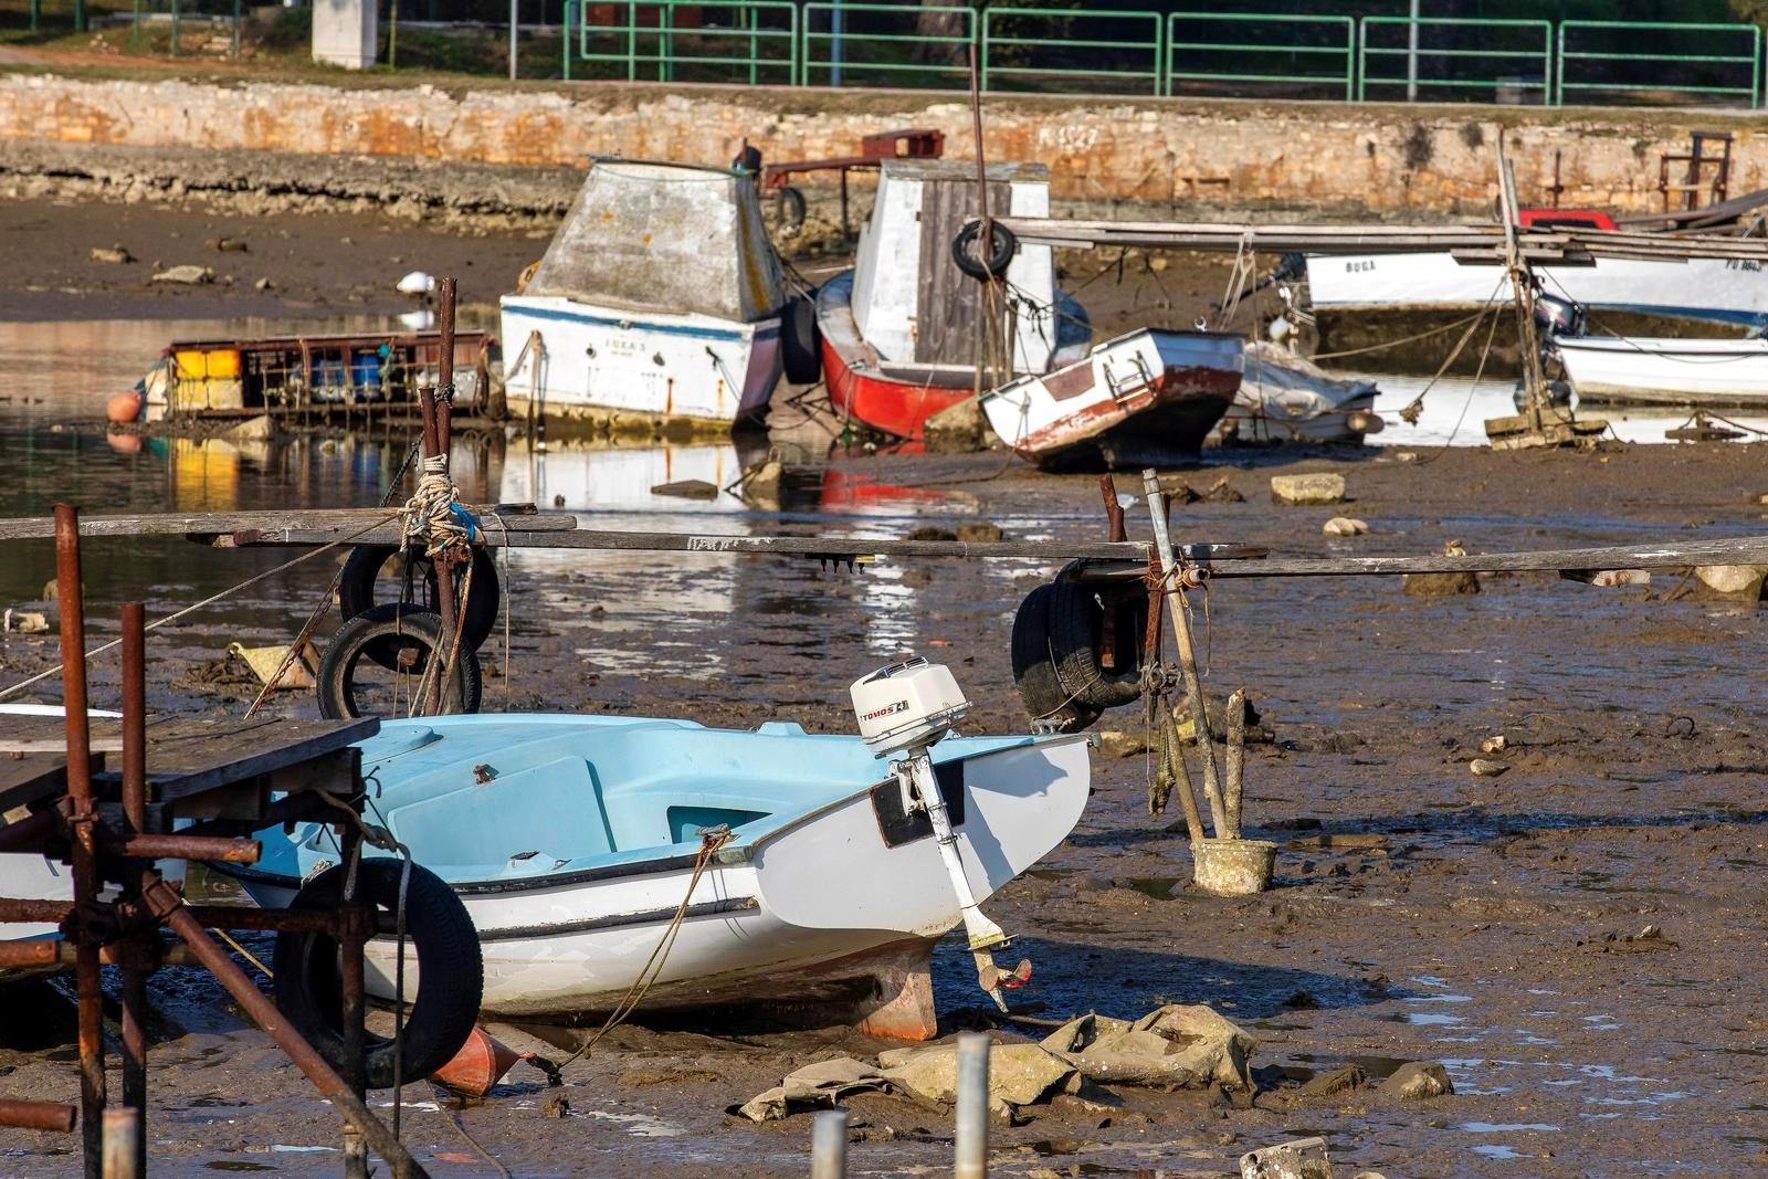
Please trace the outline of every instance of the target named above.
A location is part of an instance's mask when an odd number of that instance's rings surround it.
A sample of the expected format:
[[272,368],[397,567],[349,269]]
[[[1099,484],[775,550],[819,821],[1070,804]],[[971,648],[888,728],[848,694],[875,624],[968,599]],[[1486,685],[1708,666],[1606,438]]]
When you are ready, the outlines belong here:
[[[1768,270],[1754,262],[1598,258],[1581,267],[1538,265],[1535,274],[1547,293],[1595,311],[1768,323]],[[1315,311],[1475,311],[1510,297],[1501,269],[1462,265],[1446,253],[1308,258]]]

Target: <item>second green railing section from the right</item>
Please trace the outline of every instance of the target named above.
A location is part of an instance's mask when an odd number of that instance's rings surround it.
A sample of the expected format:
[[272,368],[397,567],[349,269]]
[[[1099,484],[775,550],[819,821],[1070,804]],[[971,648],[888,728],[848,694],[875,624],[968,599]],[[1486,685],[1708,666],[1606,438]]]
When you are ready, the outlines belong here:
[[1365,16],[1356,97],[1552,103],[1552,21]]

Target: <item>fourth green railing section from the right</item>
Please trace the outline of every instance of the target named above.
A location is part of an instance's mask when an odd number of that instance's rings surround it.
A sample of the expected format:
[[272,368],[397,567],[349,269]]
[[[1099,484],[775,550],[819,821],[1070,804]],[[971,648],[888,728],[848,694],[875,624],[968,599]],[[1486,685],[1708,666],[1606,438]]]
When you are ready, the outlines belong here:
[[1158,12],[990,7],[978,57],[983,90],[1163,90]]

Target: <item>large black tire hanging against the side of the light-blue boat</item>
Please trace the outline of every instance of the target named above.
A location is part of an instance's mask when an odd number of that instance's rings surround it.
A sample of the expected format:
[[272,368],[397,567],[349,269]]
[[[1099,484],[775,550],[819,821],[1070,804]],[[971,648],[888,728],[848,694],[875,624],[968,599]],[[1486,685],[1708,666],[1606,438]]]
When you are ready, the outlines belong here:
[[[396,916],[403,861],[364,857],[357,866],[357,894],[380,914]],[[301,886],[290,909],[336,909],[343,896],[345,866],[327,868]],[[405,937],[421,972],[417,999],[401,1034],[405,1066],[400,1080],[412,1084],[454,1059],[484,999],[484,958],[479,933],[454,889],[437,873],[412,864],[405,893]],[[391,937],[387,937],[391,940]],[[278,933],[276,1008],[343,1071],[343,979],[338,976],[338,940],[329,933]],[[392,1041],[368,1034],[370,1089],[392,1087]]]

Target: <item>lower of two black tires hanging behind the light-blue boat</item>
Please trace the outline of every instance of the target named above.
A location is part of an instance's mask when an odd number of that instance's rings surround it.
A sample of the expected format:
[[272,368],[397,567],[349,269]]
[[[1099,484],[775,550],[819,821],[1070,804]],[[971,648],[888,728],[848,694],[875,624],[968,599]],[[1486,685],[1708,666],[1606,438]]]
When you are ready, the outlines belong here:
[[[371,606],[338,628],[320,658],[320,716],[331,721],[396,714],[408,705],[435,652],[444,659],[453,635],[442,615],[403,603]],[[378,672],[377,672],[378,670]],[[442,712],[479,711],[479,656],[461,638],[442,693]]]

